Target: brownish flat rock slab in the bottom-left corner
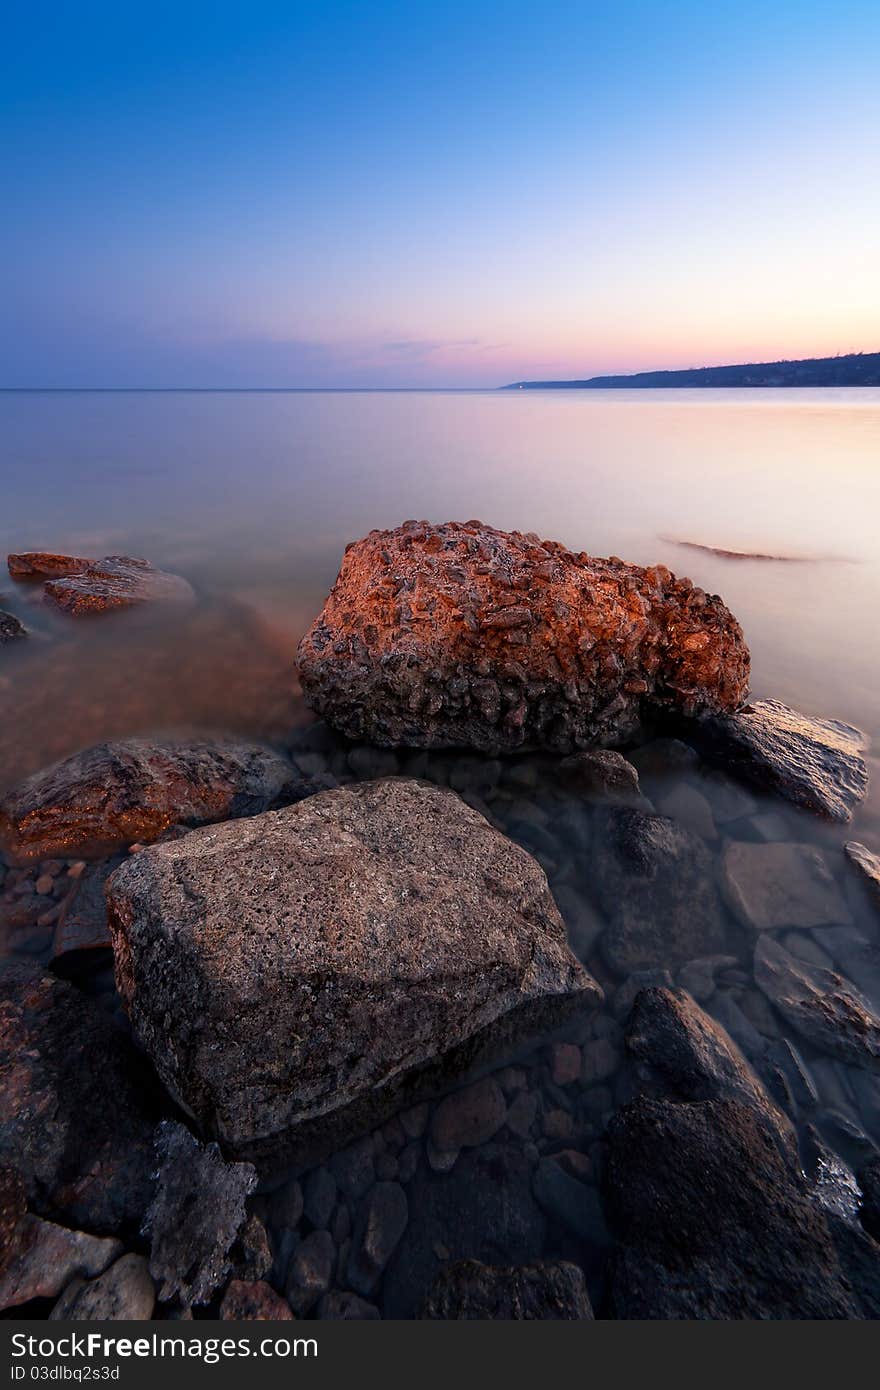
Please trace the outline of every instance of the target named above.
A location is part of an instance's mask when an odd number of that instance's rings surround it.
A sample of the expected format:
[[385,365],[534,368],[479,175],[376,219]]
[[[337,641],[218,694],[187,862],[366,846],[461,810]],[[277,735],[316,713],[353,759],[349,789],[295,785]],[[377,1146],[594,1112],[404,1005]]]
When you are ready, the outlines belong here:
[[71,1279],[99,1275],[121,1252],[118,1240],[25,1216],[17,1248],[0,1270],[0,1308],[54,1298]]

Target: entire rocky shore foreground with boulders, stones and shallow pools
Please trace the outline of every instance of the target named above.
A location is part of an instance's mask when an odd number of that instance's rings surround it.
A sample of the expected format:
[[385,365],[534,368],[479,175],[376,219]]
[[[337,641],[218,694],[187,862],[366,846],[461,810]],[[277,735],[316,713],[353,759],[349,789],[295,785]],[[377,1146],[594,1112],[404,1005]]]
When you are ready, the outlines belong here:
[[862,735],[745,705],[690,581],[478,523],[350,548],[299,660],[271,746],[0,798],[0,1307],[876,1318]]

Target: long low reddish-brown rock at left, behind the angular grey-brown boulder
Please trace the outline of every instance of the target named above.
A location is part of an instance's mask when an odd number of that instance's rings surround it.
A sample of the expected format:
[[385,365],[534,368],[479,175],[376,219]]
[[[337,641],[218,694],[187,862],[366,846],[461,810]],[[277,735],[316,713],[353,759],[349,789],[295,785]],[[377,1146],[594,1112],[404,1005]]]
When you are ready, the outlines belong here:
[[175,824],[257,815],[313,785],[263,744],[120,738],[53,763],[0,798],[0,848],[19,863],[99,858],[149,844]]

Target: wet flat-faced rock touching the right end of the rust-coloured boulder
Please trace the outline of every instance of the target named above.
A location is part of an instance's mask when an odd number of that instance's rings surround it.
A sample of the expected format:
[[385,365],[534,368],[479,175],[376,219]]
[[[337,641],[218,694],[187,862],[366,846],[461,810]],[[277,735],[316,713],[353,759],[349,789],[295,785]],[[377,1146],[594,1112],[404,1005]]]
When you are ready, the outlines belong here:
[[777,699],[692,720],[687,738],[710,762],[827,820],[851,820],[867,792],[866,735]]

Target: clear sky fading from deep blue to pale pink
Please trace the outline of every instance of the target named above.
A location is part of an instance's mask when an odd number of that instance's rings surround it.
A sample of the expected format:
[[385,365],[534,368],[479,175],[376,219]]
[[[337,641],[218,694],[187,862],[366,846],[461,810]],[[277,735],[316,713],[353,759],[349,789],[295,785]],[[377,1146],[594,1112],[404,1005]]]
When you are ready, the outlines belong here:
[[880,349],[877,0],[13,0],[0,385]]

